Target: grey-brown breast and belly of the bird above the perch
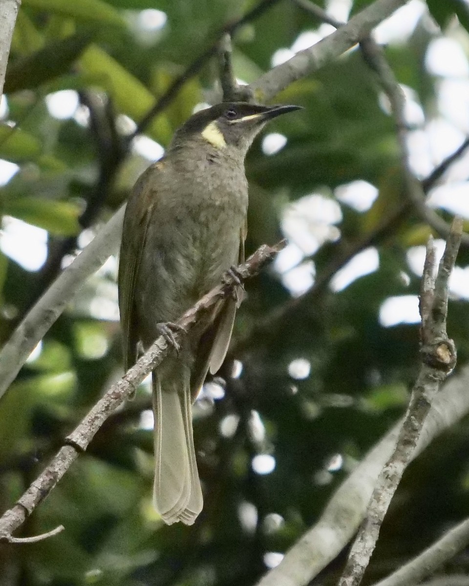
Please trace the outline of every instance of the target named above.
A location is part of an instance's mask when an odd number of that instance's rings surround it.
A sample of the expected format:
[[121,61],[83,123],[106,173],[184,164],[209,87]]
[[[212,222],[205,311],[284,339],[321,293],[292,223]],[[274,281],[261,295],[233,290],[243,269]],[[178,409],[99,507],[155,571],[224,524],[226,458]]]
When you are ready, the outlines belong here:
[[243,169],[206,161],[166,176],[149,220],[135,291],[139,314],[145,312],[148,323],[178,318],[238,263],[246,212]]

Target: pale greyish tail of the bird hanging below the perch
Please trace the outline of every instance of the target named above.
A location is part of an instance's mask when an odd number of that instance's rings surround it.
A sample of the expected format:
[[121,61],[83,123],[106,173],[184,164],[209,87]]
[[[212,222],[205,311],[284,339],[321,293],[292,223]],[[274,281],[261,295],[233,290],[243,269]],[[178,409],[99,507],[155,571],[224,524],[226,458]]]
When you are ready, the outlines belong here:
[[[179,372],[184,371],[182,367]],[[192,525],[202,510],[202,489],[192,434],[191,389],[188,373],[161,377],[152,374],[155,414],[156,509],[168,525]],[[182,380],[181,380],[182,379]]]

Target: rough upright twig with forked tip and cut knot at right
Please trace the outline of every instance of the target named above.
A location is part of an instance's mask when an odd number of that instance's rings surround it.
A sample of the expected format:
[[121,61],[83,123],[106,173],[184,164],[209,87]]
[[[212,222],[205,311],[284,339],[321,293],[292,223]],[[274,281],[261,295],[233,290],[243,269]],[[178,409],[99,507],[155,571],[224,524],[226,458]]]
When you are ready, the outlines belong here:
[[[423,423],[429,413],[431,401],[440,390],[441,383],[456,365],[456,348],[453,340],[448,339],[446,333],[446,312],[448,281],[456,263],[462,228],[461,219],[456,218],[451,224],[451,233],[440,261],[433,292],[427,291],[424,302],[421,304],[423,307],[420,347],[422,366],[412,390],[396,448],[379,475],[365,521],[352,545],[344,573],[339,580],[341,586],[358,586],[362,581],[378,541],[381,524],[403,472],[412,458]],[[424,288],[429,287],[433,279],[429,277],[434,268],[430,266],[432,259],[434,260],[434,247],[430,244],[427,248]]]

